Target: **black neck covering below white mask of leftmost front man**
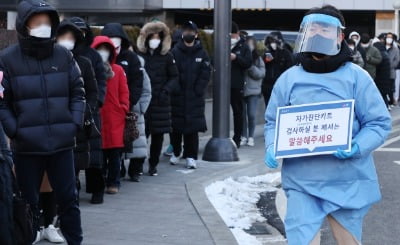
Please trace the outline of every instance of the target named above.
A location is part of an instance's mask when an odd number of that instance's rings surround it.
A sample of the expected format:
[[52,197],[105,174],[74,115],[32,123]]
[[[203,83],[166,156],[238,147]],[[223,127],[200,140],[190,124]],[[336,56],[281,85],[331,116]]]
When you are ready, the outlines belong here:
[[19,44],[24,54],[43,60],[53,54],[54,40],[52,38],[36,38],[19,36]]

